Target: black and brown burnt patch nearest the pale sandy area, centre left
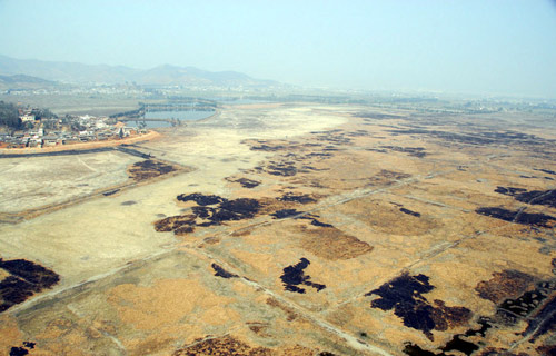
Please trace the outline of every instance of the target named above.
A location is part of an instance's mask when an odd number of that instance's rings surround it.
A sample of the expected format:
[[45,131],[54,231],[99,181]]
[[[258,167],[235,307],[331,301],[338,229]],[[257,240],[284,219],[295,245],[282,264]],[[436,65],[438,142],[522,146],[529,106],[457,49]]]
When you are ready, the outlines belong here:
[[199,205],[191,208],[191,214],[171,216],[155,221],[157,231],[173,231],[176,235],[190,234],[195,231],[195,227],[216,226],[226,221],[254,218],[261,208],[258,200],[250,198],[228,200],[218,196],[191,194],[180,195],[178,200],[195,201]]

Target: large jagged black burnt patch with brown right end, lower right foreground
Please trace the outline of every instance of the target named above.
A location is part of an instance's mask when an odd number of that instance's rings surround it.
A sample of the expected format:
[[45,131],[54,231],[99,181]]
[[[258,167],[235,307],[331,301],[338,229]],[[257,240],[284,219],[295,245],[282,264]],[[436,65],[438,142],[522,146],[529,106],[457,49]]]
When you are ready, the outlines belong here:
[[428,303],[423,295],[435,288],[428,280],[425,275],[410,276],[405,273],[365,296],[379,296],[370,303],[373,308],[394,309],[405,326],[421,330],[433,340],[433,330],[447,330],[467,324],[471,312],[465,307],[447,307],[441,300]]

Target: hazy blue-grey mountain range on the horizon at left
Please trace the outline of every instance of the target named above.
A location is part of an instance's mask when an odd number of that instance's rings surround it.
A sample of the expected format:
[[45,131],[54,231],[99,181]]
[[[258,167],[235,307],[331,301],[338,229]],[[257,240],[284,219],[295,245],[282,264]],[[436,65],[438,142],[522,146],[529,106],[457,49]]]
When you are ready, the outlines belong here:
[[[16,77],[14,77],[16,76]],[[32,78],[34,77],[34,78]],[[21,79],[21,80],[20,80]],[[218,86],[269,87],[280,83],[255,79],[236,71],[207,71],[195,67],[163,65],[141,70],[123,66],[83,65],[73,62],[14,59],[0,55],[0,83],[6,81],[36,81],[53,85],[53,81],[72,85],[137,83],[141,86]]]

